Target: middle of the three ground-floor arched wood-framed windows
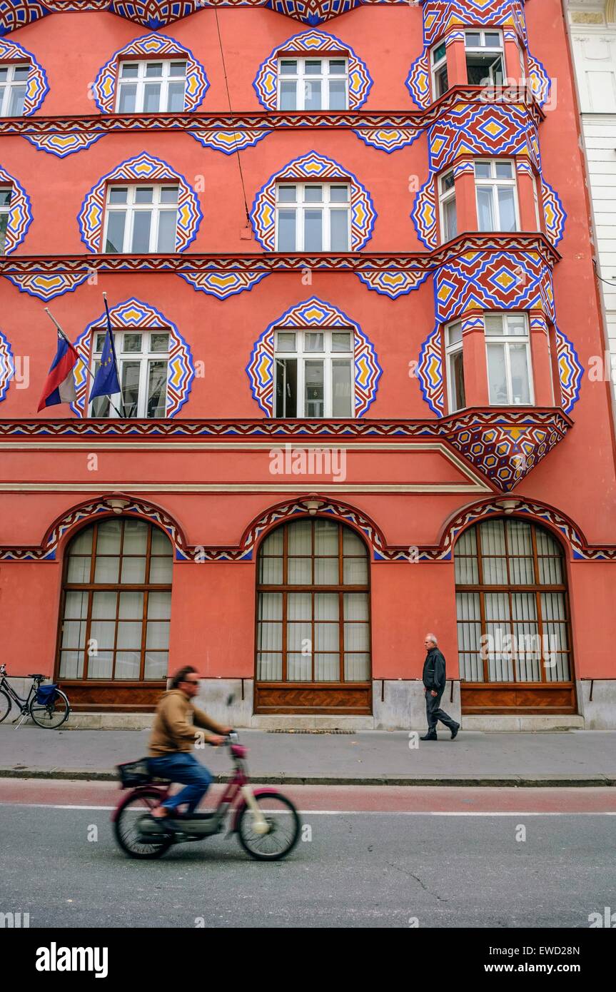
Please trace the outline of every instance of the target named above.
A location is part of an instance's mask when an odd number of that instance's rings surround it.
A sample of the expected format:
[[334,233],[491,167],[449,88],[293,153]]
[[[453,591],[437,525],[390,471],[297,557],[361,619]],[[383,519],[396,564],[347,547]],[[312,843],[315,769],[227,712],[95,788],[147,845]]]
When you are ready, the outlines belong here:
[[370,680],[361,538],[331,520],[285,524],[259,550],[257,582],[257,711],[369,711],[365,685],[345,693]]

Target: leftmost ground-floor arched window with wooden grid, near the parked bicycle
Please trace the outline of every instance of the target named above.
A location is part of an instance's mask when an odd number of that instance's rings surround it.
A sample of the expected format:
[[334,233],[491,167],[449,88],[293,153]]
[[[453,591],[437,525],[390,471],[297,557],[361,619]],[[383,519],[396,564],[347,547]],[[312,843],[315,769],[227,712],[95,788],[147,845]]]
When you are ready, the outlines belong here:
[[166,679],[172,567],[171,541],[144,520],[112,517],[72,539],[62,585],[63,682]]

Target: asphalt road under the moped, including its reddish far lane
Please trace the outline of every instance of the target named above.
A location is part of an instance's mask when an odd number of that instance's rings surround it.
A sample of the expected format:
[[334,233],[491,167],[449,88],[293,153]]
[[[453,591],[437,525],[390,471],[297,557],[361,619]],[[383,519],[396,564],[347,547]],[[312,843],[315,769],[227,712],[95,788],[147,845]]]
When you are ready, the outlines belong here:
[[0,912],[33,928],[587,928],[616,908],[614,790],[290,789],[310,839],[261,864],[223,835],[128,860],[107,784],[34,786],[0,790]]

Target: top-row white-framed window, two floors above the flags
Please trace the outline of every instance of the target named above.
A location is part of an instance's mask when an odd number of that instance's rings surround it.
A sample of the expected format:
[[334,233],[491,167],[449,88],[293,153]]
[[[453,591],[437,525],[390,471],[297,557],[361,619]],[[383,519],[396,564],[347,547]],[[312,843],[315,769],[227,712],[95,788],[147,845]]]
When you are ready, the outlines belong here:
[[185,85],[185,62],[120,62],[116,113],[182,113]]

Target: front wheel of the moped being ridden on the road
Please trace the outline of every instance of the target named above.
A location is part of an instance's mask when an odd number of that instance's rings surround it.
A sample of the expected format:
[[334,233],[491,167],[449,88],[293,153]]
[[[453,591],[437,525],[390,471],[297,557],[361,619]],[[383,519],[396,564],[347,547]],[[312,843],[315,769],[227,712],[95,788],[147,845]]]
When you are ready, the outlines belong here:
[[300,839],[302,821],[291,800],[280,793],[255,796],[269,826],[267,833],[255,830],[250,806],[244,806],[237,824],[237,835],[244,850],[257,861],[278,861],[287,857]]

